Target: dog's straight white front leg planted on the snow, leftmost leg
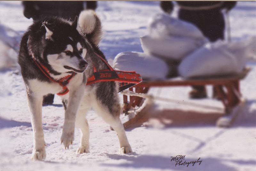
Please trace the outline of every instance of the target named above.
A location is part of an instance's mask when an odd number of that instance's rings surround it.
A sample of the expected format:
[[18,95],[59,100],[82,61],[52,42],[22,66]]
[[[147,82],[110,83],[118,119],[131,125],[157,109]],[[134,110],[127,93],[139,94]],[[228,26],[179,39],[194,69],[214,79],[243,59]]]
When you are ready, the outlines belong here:
[[43,160],[46,157],[44,131],[42,125],[42,103],[43,96],[28,90],[28,105],[31,111],[31,123],[33,128],[34,149],[33,160]]

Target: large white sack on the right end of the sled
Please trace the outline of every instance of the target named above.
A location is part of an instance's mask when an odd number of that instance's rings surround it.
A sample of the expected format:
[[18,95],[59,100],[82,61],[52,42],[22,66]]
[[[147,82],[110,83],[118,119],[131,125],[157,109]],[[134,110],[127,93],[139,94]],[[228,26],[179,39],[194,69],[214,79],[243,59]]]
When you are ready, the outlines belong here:
[[[237,46],[237,44],[233,44]],[[215,76],[237,74],[245,66],[245,51],[239,56],[233,53],[230,45],[217,41],[209,43],[188,55],[179,65],[179,74],[183,77]]]

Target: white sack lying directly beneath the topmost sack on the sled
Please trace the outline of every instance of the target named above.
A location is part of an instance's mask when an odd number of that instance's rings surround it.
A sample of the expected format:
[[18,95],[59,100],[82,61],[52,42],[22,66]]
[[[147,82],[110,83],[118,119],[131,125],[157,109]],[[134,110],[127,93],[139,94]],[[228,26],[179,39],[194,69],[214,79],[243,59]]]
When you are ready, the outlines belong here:
[[141,47],[147,54],[163,59],[182,60],[186,55],[203,46],[205,40],[188,37],[165,36],[153,38],[148,35],[140,37]]

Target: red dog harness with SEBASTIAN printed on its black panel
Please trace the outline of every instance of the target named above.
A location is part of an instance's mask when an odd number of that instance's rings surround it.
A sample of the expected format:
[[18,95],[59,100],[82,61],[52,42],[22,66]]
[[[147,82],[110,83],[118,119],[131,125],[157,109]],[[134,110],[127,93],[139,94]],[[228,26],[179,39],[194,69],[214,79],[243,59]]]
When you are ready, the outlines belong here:
[[[95,52],[94,52],[95,53]],[[142,82],[142,78],[140,74],[136,74],[135,71],[118,71],[114,70],[107,61],[105,61],[99,54],[95,53],[101,61],[103,61],[107,66],[108,69],[103,69],[97,71],[95,66],[93,66],[93,75],[87,79],[86,85],[90,85],[96,82],[106,82],[106,81],[117,81],[119,83],[119,92],[123,91],[124,89],[128,89],[136,84],[139,84]],[[42,73],[49,78],[52,82],[56,82],[60,84],[62,87],[62,91],[60,93],[57,93],[57,95],[65,95],[68,93],[68,87],[67,84],[70,82],[70,80],[76,75],[76,73],[72,73],[72,75],[67,75],[59,80],[55,80],[50,76],[50,72],[48,69],[38,63],[34,58],[33,60],[35,61],[37,67],[42,71]]]

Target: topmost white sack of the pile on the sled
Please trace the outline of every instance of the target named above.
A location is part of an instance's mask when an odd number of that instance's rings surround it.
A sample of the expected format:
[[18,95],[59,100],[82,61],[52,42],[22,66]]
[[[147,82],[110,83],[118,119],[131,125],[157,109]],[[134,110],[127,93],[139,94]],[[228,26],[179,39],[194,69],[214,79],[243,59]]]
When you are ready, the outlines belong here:
[[206,39],[195,25],[166,14],[156,14],[151,18],[148,31],[152,37],[183,36]]

